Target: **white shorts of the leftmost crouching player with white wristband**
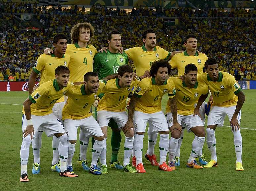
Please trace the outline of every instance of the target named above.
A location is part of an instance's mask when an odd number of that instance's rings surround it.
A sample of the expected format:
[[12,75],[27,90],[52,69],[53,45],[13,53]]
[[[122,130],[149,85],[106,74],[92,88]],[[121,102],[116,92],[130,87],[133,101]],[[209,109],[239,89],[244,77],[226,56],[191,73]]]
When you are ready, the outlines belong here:
[[[31,115],[33,127],[36,131],[44,131],[48,137],[54,136],[56,133],[65,133],[64,127],[60,120],[50,113],[44,116]],[[22,116],[22,130],[27,127],[27,119],[25,114]]]

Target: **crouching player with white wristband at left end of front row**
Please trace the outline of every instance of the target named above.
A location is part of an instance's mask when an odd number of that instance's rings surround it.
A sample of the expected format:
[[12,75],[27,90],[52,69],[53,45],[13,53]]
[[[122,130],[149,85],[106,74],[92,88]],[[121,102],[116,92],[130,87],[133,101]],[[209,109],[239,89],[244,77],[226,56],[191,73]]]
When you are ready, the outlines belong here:
[[[29,147],[32,142],[33,148],[40,149],[38,140],[32,140],[37,130],[44,131],[46,135],[56,136],[59,141],[59,154],[61,171],[60,176],[77,177],[66,168],[68,156],[67,134],[60,120],[53,114],[52,108],[55,102],[60,99],[72,86],[69,82],[69,69],[65,66],[58,66],[55,69],[55,79],[40,85],[24,102],[22,118],[23,140],[21,144],[21,178],[20,181],[29,181],[27,176],[27,162]],[[31,141],[32,140],[32,141]]]

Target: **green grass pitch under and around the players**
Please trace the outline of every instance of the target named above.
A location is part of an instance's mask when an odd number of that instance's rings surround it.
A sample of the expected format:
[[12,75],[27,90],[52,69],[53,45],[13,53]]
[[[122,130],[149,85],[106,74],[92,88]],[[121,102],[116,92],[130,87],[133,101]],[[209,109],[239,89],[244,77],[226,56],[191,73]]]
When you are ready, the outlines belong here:
[[[41,148],[41,172],[38,175],[31,173],[33,153],[30,149],[28,162],[29,182],[22,183],[20,177],[20,147],[22,142],[22,104],[28,97],[28,92],[0,92],[0,190],[255,190],[256,187],[256,127],[255,108],[256,90],[244,90],[246,101],[242,108],[241,129],[243,138],[243,167],[244,171],[235,170],[235,149],[233,134],[229,127],[216,130],[218,167],[210,169],[190,169],[185,166],[190,155],[193,133],[184,133],[181,147],[181,166],[176,171],[163,172],[158,167],[151,166],[149,161],[143,160],[145,174],[130,174],[121,170],[110,169],[107,175],[92,175],[83,171],[77,165],[79,144],[73,158],[74,172],[77,178],[60,177],[50,170],[52,161],[52,138],[43,134]],[[165,108],[167,96],[163,98],[162,107]],[[16,105],[15,105],[16,104]],[[229,125],[226,118],[224,125]],[[122,134],[123,135],[123,134]],[[147,135],[144,137],[143,154],[147,151]],[[108,129],[107,163],[111,158],[111,129]],[[78,142],[79,143],[79,142]],[[158,142],[155,154],[159,159]],[[87,160],[91,161],[91,144],[89,144]],[[121,147],[124,145],[124,136]],[[30,147],[31,148],[31,147]],[[206,160],[210,160],[207,144],[204,144],[203,153]],[[123,149],[119,151],[119,161],[123,161]],[[168,157],[168,156],[167,156]],[[168,159],[167,159],[168,160]]]

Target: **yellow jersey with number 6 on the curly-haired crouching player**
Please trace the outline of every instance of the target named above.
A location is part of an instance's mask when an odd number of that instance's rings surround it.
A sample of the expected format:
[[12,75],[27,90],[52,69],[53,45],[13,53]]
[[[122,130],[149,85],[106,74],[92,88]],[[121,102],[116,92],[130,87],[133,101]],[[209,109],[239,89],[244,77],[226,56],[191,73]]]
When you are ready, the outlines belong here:
[[157,85],[154,77],[142,79],[134,92],[135,96],[140,98],[136,103],[135,110],[143,113],[161,111],[162,97],[166,93],[169,98],[173,98],[176,94],[172,80],[168,79],[163,85]]

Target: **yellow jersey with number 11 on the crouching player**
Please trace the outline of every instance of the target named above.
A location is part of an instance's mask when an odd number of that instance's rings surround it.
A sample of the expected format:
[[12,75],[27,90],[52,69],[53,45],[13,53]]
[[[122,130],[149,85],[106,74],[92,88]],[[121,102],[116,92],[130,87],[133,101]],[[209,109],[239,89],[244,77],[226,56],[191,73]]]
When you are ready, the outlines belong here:
[[120,88],[118,82],[118,78],[107,81],[106,86],[102,90],[102,92],[105,92],[105,95],[99,102],[97,111],[125,111],[126,98],[133,91],[133,87],[139,84],[140,79],[133,80],[131,85],[126,88]]

